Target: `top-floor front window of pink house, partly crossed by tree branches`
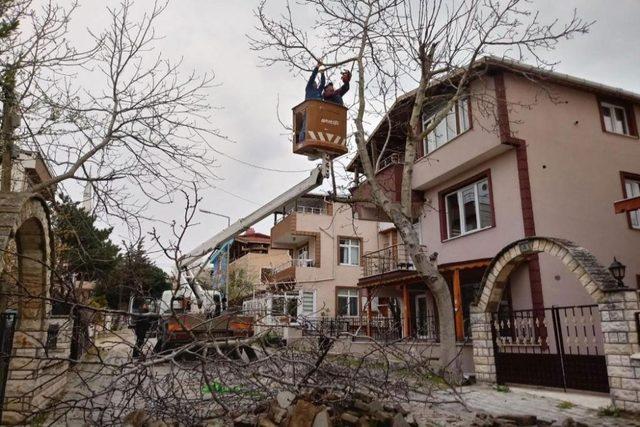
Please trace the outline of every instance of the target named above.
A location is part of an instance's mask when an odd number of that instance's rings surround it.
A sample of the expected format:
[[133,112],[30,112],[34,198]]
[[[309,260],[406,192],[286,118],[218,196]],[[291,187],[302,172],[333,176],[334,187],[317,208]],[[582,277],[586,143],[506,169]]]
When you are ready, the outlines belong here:
[[[434,117],[438,114],[436,111],[432,114],[424,114],[422,116],[422,129],[426,129]],[[469,98],[460,98],[458,102],[449,110],[446,117],[443,118],[435,129],[427,135],[424,144],[424,152],[431,153],[451,141],[456,136],[466,132],[471,127],[469,120]]]

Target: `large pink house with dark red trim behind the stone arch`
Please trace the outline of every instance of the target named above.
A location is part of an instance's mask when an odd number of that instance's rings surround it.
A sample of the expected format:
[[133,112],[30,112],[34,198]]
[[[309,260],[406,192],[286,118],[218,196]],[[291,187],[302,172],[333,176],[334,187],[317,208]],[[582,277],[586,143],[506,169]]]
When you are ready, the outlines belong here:
[[[429,90],[455,92],[448,84]],[[369,140],[375,158],[391,135],[377,173],[392,199],[399,194],[412,95],[398,99]],[[640,194],[639,105],[638,94],[485,58],[464,96],[419,147],[412,188],[421,206],[414,220],[422,245],[449,283],[465,371],[474,369],[471,306],[490,261],[511,242],[531,236],[574,242],[605,267],[614,257],[621,261],[626,265],[624,285],[638,288],[640,211],[616,215],[613,205]],[[425,106],[425,125],[439,108]],[[350,169],[358,172],[357,161]],[[366,194],[367,183],[353,191]],[[360,218],[380,219],[372,205],[356,210]],[[413,266],[400,262],[402,248],[399,241],[397,249],[386,253],[365,252],[363,264],[370,268],[364,269],[359,287],[363,294],[398,301],[403,336],[437,341],[428,333],[437,331],[437,325],[430,325],[437,318],[435,307]],[[594,304],[561,260],[532,254],[511,272],[500,302],[498,311],[510,313],[501,322],[510,329],[503,333],[504,325],[496,327],[510,344],[522,338],[516,324],[528,325],[526,339],[544,341],[551,326],[538,324],[544,320],[540,313],[551,313],[551,307],[564,310],[563,315],[570,311],[567,319],[592,332],[569,335],[565,341],[588,341],[582,347],[575,344],[574,351],[602,355]]]

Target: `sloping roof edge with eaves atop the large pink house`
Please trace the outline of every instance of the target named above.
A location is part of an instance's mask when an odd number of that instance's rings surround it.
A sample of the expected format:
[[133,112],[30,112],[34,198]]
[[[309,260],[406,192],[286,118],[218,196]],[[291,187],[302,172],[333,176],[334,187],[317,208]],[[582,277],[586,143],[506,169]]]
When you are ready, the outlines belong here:
[[[618,88],[615,86],[609,86],[602,83],[594,82],[591,80],[583,79],[580,77],[575,77],[565,73],[559,73],[552,70],[545,70],[530,64],[526,64],[524,62],[515,61],[507,58],[500,58],[497,56],[487,55],[483,56],[479,60],[475,62],[473,68],[477,70],[479,73],[476,76],[485,74],[488,71],[502,70],[509,71],[518,74],[522,74],[532,80],[537,80],[539,82],[549,82],[555,83],[562,86],[572,87],[576,89],[586,90],[589,92],[596,93],[602,96],[609,96],[616,99],[621,99],[624,101],[628,101],[631,103],[640,104],[640,93],[628,91],[622,88]],[[460,77],[465,69],[461,68],[455,70],[445,77],[434,80],[429,84],[429,89],[437,88],[443,84],[451,82],[455,80],[457,77]],[[375,127],[373,132],[371,132],[367,144],[371,142],[374,136],[380,131],[381,127],[387,122],[387,117],[392,114],[394,111],[398,110],[401,106],[407,105],[412,101],[413,97],[416,94],[417,89],[411,90],[403,95],[400,95],[394,101],[393,105],[385,114],[385,116],[380,120],[378,125]],[[347,165],[348,171],[354,171],[355,164],[358,160],[358,156],[354,156],[353,159]]]

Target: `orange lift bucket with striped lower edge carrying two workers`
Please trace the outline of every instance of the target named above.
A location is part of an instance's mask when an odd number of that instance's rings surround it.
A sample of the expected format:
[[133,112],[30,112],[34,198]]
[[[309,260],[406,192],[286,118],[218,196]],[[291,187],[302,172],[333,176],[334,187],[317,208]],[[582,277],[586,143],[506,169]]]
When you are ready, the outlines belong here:
[[347,108],[309,99],[293,107],[293,152],[310,160],[346,154]]

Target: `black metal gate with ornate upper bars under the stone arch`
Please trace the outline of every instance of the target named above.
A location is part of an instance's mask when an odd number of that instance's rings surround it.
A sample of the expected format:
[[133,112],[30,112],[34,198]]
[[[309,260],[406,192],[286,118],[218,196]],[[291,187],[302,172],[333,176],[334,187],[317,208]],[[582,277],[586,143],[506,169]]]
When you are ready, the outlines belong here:
[[499,384],[609,392],[597,305],[501,311],[491,331]]

